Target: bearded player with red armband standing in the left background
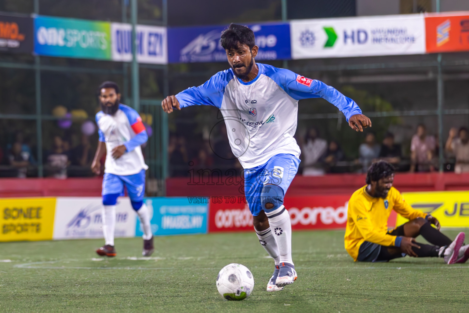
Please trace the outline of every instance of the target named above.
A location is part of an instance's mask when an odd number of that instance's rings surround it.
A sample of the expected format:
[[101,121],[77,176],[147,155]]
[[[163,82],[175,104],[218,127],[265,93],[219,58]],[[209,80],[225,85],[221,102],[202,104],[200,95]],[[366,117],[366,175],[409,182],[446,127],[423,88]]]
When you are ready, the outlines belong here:
[[98,88],[101,111],[96,114],[98,124],[98,149],[91,169],[101,171],[100,160],[106,153],[103,177],[103,233],[105,245],[96,250],[99,255],[113,257],[114,228],[116,223],[115,206],[117,198],[123,195],[124,186],[129,194],[133,209],[138,214],[144,229],[142,254],[150,256],[154,251],[150,213],[143,202],[145,194],[145,170],[142,148],[148,135],[137,111],[121,104],[119,86],[114,82],[104,82]]

